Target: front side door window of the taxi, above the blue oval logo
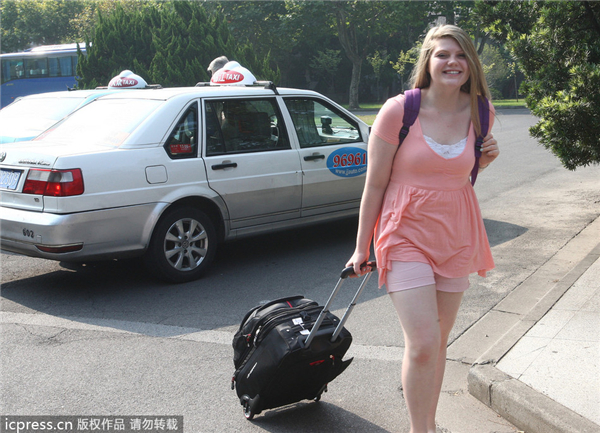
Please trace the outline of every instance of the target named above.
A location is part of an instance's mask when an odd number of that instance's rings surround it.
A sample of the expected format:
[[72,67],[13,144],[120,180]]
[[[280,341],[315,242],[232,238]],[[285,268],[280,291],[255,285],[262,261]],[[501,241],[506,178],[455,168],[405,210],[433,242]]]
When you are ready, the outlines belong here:
[[307,98],[286,98],[301,148],[362,141],[356,122],[335,107]]

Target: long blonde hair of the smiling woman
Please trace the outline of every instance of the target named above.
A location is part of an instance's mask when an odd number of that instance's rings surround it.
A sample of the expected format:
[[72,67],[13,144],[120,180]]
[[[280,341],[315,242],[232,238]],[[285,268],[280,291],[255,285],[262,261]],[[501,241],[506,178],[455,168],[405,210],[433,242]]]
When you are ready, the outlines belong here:
[[454,25],[443,24],[433,27],[427,32],[427,36],[425,36],[423,46],[421,47],[419,59],[412,72],[412,88],[424,89],[431,85],[429,59],[431,58],[435,44],[443,38],[454,39],[465,53],[469,65],[469,79],[463,84],[461,90],[471,96],[471,121],[473,122],[475,132],[479,135],[481,125],[479,124],[478,97],[484,96],[491,99],[491,96],[475,45],[471,37],[463,29]]

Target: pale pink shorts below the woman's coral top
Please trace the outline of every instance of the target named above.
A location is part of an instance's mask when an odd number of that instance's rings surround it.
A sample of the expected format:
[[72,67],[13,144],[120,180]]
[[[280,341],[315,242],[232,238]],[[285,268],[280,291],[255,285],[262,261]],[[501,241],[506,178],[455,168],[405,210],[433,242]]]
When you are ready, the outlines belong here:
[[440,292],[464,292],[469,288],[469,276],[447,278],[433,272],[431,266],[420,262],[392,262],[385,287],[388,293],[434,284]]

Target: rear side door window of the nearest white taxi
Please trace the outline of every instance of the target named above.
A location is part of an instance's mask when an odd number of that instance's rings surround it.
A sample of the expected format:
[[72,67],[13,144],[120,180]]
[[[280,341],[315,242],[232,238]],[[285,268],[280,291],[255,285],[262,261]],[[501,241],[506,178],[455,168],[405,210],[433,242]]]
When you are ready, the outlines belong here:
[[274,98],[205,103],[206,155],[290,149]]

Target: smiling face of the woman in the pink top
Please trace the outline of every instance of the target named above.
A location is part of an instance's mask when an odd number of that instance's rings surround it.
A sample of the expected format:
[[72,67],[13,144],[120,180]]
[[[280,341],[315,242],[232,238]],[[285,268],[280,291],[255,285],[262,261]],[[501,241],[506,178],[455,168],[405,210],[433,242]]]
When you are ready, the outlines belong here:
[[429,59],[432,84],[460,88],[469,79],[469,63],[464,51],[452,38],[438,39]]

